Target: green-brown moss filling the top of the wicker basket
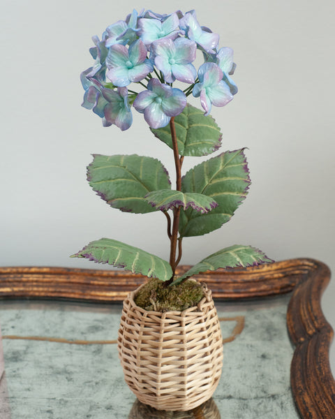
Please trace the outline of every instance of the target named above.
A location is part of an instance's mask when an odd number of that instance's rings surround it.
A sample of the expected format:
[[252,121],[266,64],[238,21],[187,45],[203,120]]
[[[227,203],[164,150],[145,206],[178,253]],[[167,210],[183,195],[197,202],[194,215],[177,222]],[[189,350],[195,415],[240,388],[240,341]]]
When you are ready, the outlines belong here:
[[135,295],[135,303],[147,311],[182,311],[196,306],[202,297],[202,285],[194,280],[165,286],[159,279],[150,279]]

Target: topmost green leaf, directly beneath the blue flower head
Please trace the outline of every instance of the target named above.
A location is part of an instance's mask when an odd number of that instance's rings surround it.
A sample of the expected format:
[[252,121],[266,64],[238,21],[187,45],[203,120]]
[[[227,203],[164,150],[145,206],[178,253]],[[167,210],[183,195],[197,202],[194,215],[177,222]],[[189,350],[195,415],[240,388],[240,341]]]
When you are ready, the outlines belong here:
[[[206,156],[221,146],[221,131],[213,117],[205,117],[204,111],[186,105],[183,112],[174,117],[178,152],[181,156]],[[150,128],[154,135],[173,149],[170,124],[163,128]]]

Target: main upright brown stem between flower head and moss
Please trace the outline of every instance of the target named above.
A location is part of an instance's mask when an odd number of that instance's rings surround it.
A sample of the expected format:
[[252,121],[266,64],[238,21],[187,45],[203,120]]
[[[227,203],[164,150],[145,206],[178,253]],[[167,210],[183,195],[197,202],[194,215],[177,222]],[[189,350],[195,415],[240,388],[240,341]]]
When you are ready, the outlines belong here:
[[[174,164],[176,166],[176,189],[181,191],[181,163],[179,159],[178,144],[177,144],[177,135],[176,128],[174,126],[174,117],[170,119],[170,130],[171,130],[171,139],[173,146],[173,155],[174,155]],[[177,250],[177,237],[178,237],[178,228],[179,228],[179,216],[180,216],[180,207],[174,209],[173,212],[173,224],[172,224],[172,236],[171,236],[171,247],[170,247],[170,265],[172,267],[172,272],[174,272],[177,267],[176,263],[176,250]]]

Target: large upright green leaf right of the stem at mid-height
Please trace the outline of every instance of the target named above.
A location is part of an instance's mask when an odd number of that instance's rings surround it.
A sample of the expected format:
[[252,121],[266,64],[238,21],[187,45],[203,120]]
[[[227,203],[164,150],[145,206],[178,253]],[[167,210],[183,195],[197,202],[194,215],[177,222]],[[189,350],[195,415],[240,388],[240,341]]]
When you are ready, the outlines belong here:
[[182,179],[181,190],[209,196],[218,206],[209,214],[199,214],[191,208],[181,210],[181,237],[210,233],[229,221],[246,198],[250,183],[243,149],[225,152],[188,170]]

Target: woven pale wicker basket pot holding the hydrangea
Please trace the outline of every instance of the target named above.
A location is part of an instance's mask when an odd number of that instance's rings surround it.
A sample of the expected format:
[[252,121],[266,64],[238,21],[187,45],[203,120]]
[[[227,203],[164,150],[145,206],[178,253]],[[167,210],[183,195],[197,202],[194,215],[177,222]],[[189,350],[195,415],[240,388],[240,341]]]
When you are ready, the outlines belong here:
[[223,343],[211,291],[184,311],[146,311],[124,300],[118,351],[126,383],[140,402],[188,411],[206,402],[221,376]]

